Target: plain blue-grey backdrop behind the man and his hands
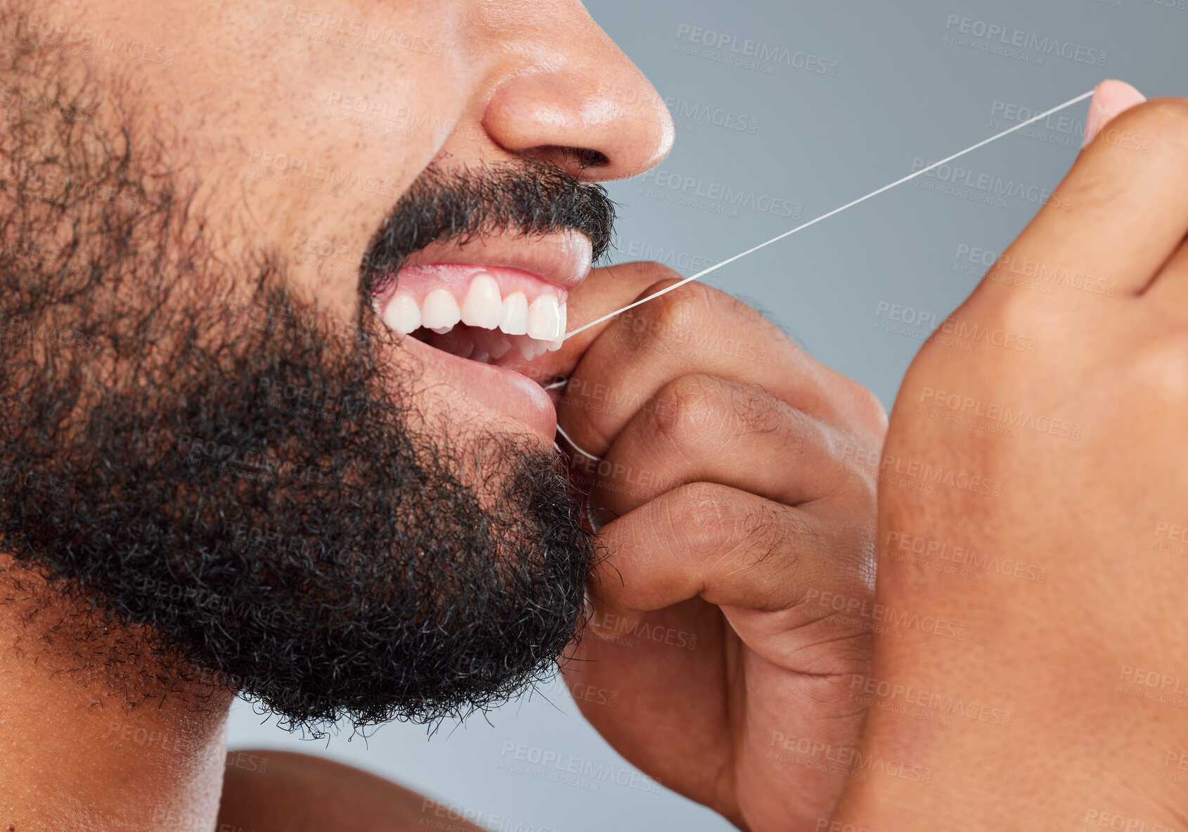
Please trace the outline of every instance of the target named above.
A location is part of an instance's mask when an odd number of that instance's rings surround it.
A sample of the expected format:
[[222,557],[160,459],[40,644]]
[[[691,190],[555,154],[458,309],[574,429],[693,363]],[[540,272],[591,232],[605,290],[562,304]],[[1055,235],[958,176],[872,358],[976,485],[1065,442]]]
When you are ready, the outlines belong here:
[[[1176,7],[1178,0],[1164,1],[1173,6],[1154,0],[592,0],[587,6],[677,111],[676,147],[661,166],[668,181],[694,177],[703,190],[719,184],[786,200],[802,206],[808,220],[911,172],[916,158],[943,158],[1013,124],[1004,119],[1004,107],[996,112],[996,102],[1042,112],[1105,77],[1130,81],[1149,96],[1188,94],[1188,10]],[[956,33],[947,29],[949,15],[1105,51],[1105,65],[1024,50],[1042,57],[1036,63],[948,43],[944,36]],[[769,51],[819,56],[836,62],[835,74],[767,62],[769,74],[688,55],[681,51],[688,34],[677,38],[682,24],[737,36],[740,44],[760,40]],[[747,124],[754,119],[756,131],[681,118],[690,106],[732,111]],[[1054,116],[955,164],[972,170],[973,178],[985,174],[1029,189],[1055,188],[1078,152],[1086,112],[1082,102],[1061,114],[1067,122]],[[655,179],[649,179],[653,187]],[[798,225],[750,208],[729,216],[678,204],[642,184],[611,187],[623,218],[615,260],[714,263]],[[891,321],[877,314],[879,304],[943,320],[985,270],[959,259],[959,246],[1001,252],[1038,207],[1019,197],[1005,203],[909,183],[709,282],[760,304],[815,357],[890,406],[928,327],[918,333],[880,328]],[[367,740],[348,742],[347,731],[328,743],[309,742],[261,720],[236,704],[232,746],[322,754],[466,807],[491,828],[733,828],[669,792],[612,781],[590,783],[596,790],[562,786],[542,779],[552,770],[546,765],[500,769],[514,762],[504,752],[507,743],[535,749],[533,755],[555,754],[563,764],[575,757],[590,767],[626,765],[581,719],[560,682],[486,720],[446,724],[432,737],[424,727],[393,724]]]

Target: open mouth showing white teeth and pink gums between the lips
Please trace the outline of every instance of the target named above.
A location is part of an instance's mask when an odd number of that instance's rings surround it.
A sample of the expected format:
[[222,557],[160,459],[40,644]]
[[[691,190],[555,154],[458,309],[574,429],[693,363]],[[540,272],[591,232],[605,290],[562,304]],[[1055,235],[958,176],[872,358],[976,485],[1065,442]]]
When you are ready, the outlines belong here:
[[561,348],[568,290],[513,266],[406,265],[372,298],[388,329],[442,352],[494,364]]

